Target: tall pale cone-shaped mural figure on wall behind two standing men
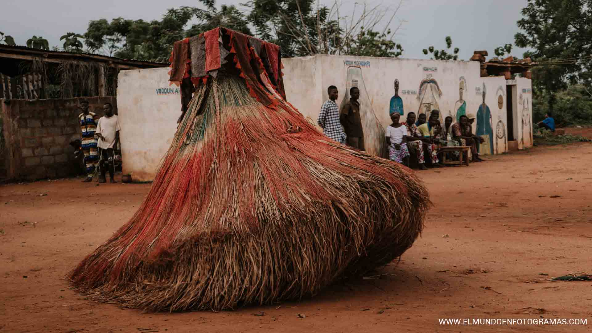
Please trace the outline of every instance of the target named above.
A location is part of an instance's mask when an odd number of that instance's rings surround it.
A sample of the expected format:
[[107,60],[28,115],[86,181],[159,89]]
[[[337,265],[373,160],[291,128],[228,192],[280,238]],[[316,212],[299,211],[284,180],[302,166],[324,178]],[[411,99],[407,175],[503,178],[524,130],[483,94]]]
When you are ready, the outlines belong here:
[[387,149],[384,144],[384,128],[378,121],[374,113],[374,108],[372,108],[372,102],[370,101],[362,78],[362,69],[356,66],[349,66],[346,78],[345,96],[339,105],[339,110],[342,110],[343,105],[349,101],[350,89],[352,87],[358,87],[360,91],[358,103],[360,104],[360,118],[362,120],[365,151],[370,155],[387,158]]

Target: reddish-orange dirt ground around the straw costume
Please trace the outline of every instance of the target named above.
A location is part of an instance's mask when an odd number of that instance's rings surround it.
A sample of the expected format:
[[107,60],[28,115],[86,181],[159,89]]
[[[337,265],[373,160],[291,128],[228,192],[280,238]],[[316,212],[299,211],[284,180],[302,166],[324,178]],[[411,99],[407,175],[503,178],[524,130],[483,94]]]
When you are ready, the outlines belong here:
[[[69,179],[1,186],[0,331],[590,330],[592,282],[545,279],[592,273],[591,144],[532,148],[420,175],[434,207],[401,261],[371,274],[382,276],[233,312],[144,313],[94,303],[68,288],[67,271],[131,217],[149,184]],[[462,326],[439,325],[439,318],[588,322]]]

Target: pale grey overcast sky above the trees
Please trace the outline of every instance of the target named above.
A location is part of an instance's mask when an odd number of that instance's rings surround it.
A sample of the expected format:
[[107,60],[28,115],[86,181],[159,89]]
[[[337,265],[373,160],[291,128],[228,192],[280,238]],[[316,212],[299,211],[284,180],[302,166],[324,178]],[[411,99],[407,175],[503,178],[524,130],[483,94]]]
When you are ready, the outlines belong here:
[[[369,5],[388,5],[396,0],[368,0]],[[160,19],[168,8],[195,6],[197,0],[7,0],[1,5],[0,31],[25,45],[31,36],[43,36],[50,47],[62,46],[60,36],[67,32],[85,33],[88,21],[115,17],[130,19]],[[246,0],[218,0],[220,4],[238,5]],[[363,1],[360,1],[363,3]],[[526,0],[405,0],[398,18],[406,20],[395,38],[405,50],[402,57],[428,59],[422,50],[430,45],[446,47],[446,36],[451,36],[452,47],[461,49],[460,58],[468,60],[474,50],[487,50],[494,56],[497,46],[513,43],[519,31],[516,21]],[[332,4],[321,0],[321,4]],[[351,12],[353,0],[342,1],[341,14]],[[244,7],[239,7],[243,11]],[[393,27],[396,23],[392,24]],[[514,49],[513,56],[522,57],[522,49]]]

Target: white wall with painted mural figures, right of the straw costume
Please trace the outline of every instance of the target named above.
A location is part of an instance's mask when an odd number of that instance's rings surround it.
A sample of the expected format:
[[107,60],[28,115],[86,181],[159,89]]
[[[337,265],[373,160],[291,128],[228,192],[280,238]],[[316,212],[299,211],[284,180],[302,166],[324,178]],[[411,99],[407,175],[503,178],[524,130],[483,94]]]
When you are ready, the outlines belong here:
[[[372,103],[374,113],[384,127],[391,123],[388,108],[391,97],[394,95],[395,79],[399,80],[399,95],[403,98],[405,113],[403,119],[410,111],[416,114],[424,112],[424,108],[420,108],[422,94],[419,88],[422,80],[428,75],[435,79],[442,91],[442,95],[436,99],[440,112],[443,116],[452,116],[455,120],[457,108],[455,104],[459,100],[461,78],[464,78],[466,84],[463,92],[463,99],[466,101],[466,114],[472,113],[477,116],[485,84],[485,104],[491,112],[493,150],[495,153],[507,151],[506,79],[503,76],[481,78],[479,62],[328,55],[289,58],[283,59],[282,62],[284,63],[284,86],[288,101],[298,108],[305,117],[313,120],[317,119],[320,106],[328,98],[327,87],[329,85],[335,85],[339,89],[340,97],[337,104],[340,104],[345,96],[346,87],[348,87],[346,73],[349,66],[359,65],[362,68],[363,81],[369,94],[368,98]],[[320,80],[318,78],[319,72],[321,73]],[[321,84],[318,85],[317,82],[321,82]],[[522,89],[531,89],[530,79],[518,78],[514,82],[520,92]],[[311,87],[318,89],[318,92],[311,92]],[[303,91],[307,92],[303,94]],[[525,132],[526,136],[522,136],[522,118],[524,117],[526,121],[526,129],[529,128],[527,126],[529,117],[532,126],[532,99],[530,95],[532,94],[525,93],[524,96],[515,98],[519,107],[514,110],[519,111],[514,115],[517,117],[516,121],[519,122],[514,121],[514,124],[520,124],[520,126],[515,126],[517,131],[515,137],[519,142],[520,149],[532,146],[532,131],[530,131],[530,136],[528,130]],[[498,104],[500,96],[501,108]],[[523,101],[527,101],[527,109],[523,108]],[[500,120],[502,125],[500,125],[500,133],[497,133],[497,124]],[[473,129],[477,130],[476,122]]]

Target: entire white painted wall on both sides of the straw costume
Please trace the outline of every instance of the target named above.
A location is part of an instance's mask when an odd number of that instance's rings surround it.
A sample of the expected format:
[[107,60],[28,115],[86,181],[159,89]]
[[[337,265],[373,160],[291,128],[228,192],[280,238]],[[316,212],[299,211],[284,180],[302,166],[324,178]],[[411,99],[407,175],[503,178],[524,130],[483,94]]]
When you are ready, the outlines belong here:
[[[466,114],[475,114],[482,103],[482,87],[487,94],[485,103],[491,111],[494,149],[506,152],[507,111],[506,85],[515,85],[514,137],[519,148],[532,146],[532,93],[530,79],[506,81],[502,76],[480,77],[479,62],[393,59],[380,57],[350,57],[318,55],[282,59],[284,87],[289,103],[316,124],[318,111],[328,98],[327,87],[339,89],[340,104],[346,92],[346,73],[349,66],[362,68],[368,98],[383,127],[391,123],[388,108],[394,95],[394,79],[399,80],[399,95],[403,98],[404,113],[420,110],[420,82],[428,75],[435,79],[442,91],[437,98],[443,116],[456,119],[459,82],[464,78],[463,93]],[[117,105],[121,121],[121,148],[124,172],[133,172],[135,180],[152,180],[160,159],[170,146],[176,130],[176,119],[181,110],[181,95],[175,85],[169,86],[168,68],[122,71],[117,89]],[[159,94],[169,92],[172,94]],[[526,89],[523,92],[523,89]],[[361,89],[363,91],[363,89]],[[502,97],[501,108],[498,97]],[[524,107],[526,105],[526,107]],[[405,119],[406,116],[403,116]],[[522,119],[525,125],[522,125]],[[497,137],[497,123],[502,121],[505,132]],[[530,127],[529,127],[530,121]],[[474,130],[476,130],[474,124]],[[525,136],[523,136],[525,133]]]

